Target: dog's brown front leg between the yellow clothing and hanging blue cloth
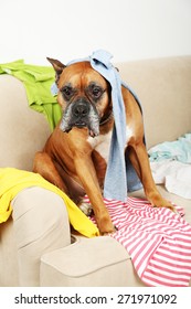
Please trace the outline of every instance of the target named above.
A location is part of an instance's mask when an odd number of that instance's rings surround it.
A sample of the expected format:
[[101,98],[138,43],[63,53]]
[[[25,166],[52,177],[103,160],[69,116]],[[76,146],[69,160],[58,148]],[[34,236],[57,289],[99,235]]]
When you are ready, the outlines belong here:
[[99,183],[92,158],[83,153],[76,153],[74,159],[76,173],[84,187],[86,194],[92,203],[95,219],[102,235],[115,231],[109,213],[104,204]]

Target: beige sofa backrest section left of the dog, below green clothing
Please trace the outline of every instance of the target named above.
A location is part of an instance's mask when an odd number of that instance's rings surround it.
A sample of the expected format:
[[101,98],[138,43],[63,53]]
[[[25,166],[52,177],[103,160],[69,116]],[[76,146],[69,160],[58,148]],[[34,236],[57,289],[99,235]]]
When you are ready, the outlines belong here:
[[0,168],[31,170],[50,135],[45,117],[29,108],[23,84],[0,75]]

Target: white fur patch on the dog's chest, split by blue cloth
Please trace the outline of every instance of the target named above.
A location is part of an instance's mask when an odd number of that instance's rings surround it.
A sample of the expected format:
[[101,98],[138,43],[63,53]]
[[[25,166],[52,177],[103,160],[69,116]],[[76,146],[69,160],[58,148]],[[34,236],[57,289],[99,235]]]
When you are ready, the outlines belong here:
[[[126,145],[128,145],[129,139],[132,137],[132,130],[126,128]],[[108,162],[109,147],[110,147],[112,131],[106,135],[99,135],[97,137],[88,137],[87,141],[91,143],[92,148],[96,150],[100,157]]]

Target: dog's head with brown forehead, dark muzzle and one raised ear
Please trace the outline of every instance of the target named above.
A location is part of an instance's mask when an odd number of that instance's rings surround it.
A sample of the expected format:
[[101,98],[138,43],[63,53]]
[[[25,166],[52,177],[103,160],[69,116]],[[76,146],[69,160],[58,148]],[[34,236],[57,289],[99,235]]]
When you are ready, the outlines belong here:
[[92,137],[99,134],[99,124],[112,113],[110,86],[89,62],[65,66],[47,58],[56,73],[57,102],[62,107],[61,129],[87,128]]

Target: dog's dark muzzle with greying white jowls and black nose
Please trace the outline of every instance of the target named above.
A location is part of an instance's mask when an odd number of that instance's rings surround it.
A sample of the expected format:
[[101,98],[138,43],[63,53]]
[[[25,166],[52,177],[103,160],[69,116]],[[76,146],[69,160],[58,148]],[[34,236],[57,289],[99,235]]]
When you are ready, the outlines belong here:
[[99,135],[99,116],[97,109],[84,98],[70,104],[63,114],[60,125],[61,130],[68,132],[73,127],[86,127],[92,137]]

